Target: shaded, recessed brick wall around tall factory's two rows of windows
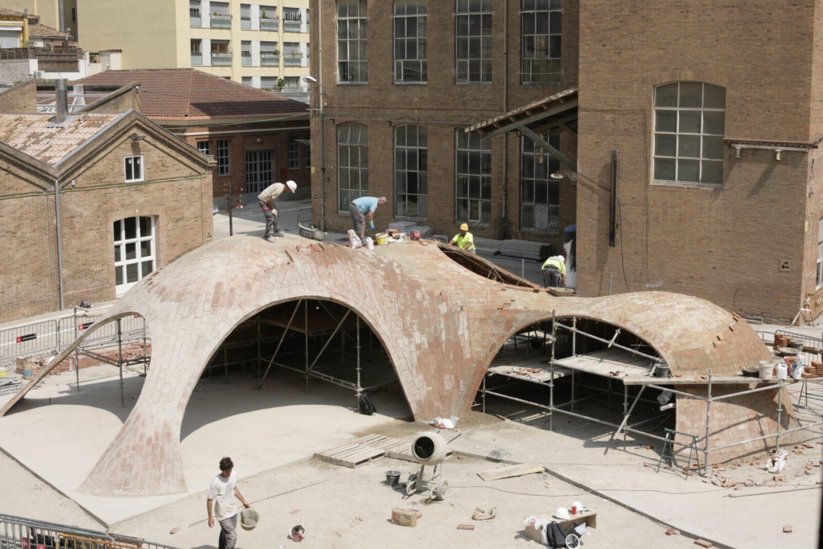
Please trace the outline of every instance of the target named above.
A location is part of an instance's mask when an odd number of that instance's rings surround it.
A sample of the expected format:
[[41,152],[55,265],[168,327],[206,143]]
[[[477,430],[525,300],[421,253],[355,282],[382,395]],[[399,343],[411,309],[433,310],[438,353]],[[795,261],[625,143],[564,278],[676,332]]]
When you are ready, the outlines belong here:
[[[337,84],[337,40],[333,2],[312,2],[313,13],[323,17],[323,63],[319,64],[319,25],[313,24],[312,73],[323,72],[326,168],[326,226],[332,230],[351,228],[348,213],[339,214],[337,194],[337,128],[341,123],[359,121],[369,127],[369,193],[389,199],[376,214],[376,224],[393,221],[394,161],[393,126],[404,122],[423,123],[428,130],[428,217],[424,225],[435,233],[453,235],[463,220],[455,219],[454,205],[454,132],[458,128],[502,114],[520,105],[542,99],[577,84],[578,2],[565,0],[563,15],[562,82],[559,85],[520,83],[520,2],[494,0],[493,54],[491,84],[456,84],[454,63],[454,2],[428,3],[428,83],[395,84],[393,78],[393,2],[369,3],[369,83]],[[506,9],[508,14],[506,16]],[[505,21],[508,20],[508,24]],[[316,21],[316,20],[315,20]],[[506,34],[508,33],[508,36]],[[316,100],[316,95],[315,99]],[[316,106],[316,105],[313,105]],[[314,123],[312,139],[320,143],[319,124]],[[505,147],[505,153],[504,153]],[[574,157],[576,138],[563,134],[561,149]],[[319,147],[318,147],[319,148]],[[562,242],[562,234],[520,230],[519,221],[519,137],[492,138],[492,221],[488,226],[472,226],[476,236],[523,238]],[[505,156],[505,160],[504,160]],[[319,163],[319,151],[315,154]],[[320,170],[314,188],[320,189]],[[574,223],[576,210],[574,186],[560,184],[560,230]],[[505,198],[504,198],[505,197]],[[320,219],[320,200],[313,201],[314,219]],[[344,207],[347,210],[347,207]]]

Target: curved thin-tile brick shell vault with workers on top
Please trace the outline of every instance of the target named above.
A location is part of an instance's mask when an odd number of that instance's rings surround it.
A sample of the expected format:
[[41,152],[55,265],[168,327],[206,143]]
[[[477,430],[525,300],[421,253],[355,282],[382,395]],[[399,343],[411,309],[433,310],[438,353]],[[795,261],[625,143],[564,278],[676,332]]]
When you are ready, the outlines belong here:
[[204,366],[244,319],[299,298],[333,300],[360,314],[383,342],[416,419],[467,410],[504,342],[551,319],[552,310],[558,318],[597,319],[635,333],[673,374],[732,373],[769,356],[748,324],[688,295],[557,298],[478,276],[425,241],[370,252],[292,235],[276,244],[236,236],[195,249],[140,281],[52,362],[107,321],[142,314],[151,328],[151,369],[140,398],[81,490],[185,491],[180,426]]

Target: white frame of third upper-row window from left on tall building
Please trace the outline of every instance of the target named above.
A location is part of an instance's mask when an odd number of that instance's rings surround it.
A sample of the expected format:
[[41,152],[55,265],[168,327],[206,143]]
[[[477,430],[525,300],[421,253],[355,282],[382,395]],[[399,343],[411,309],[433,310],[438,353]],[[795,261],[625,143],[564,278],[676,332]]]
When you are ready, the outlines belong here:
[[[457,0],[454,12],[454,79],[458,84],[491,84],[491,24],[493,22],[491,0],[481,0],[480,9],[472,10],[472,0]],[[472,26],[472,16],[480,25]],[[484,31],[483,21],[489,21],[489,30]],[[464,29],[465,34],[461,34]],[[472,40],[480,41],[480,57],[472,57]],[[463,50],[464,55],[460,52]],[[472,72],[472,64],[477,63],[477,72]],[[472,78],[472,75],[478,75]]]

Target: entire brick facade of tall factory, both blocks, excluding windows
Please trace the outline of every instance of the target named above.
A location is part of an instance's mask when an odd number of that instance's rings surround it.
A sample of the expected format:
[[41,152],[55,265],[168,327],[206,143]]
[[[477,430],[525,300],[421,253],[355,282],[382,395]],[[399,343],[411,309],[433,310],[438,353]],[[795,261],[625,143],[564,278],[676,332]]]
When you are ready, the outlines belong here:
[[[337,132],[346,123],[368,128],[368,193],[389,198],[377,212],[378,225],[402,218],[393,199],[393,128],[416,123],[429,136],[428,214],[416,221],[451,235],[465,221],[455,207],[455,133],[579,86],[577,124],[560,133],[560,151],[606,187],[586,178],[559,184],[557,226],[577,224],[580,295],[679,291],[737,313],[792,319],[807,292],[816,290],[823,204],[812,168],[821,137],[823,65],[814,38],[823,25],[821,2],[701,0],[683,7],[663,0],[491,0],[491,82],[482,84],[456,83],[455,2],[421,3],[427,4],[425,84],[395,82],[394,2],[365,2],[367,83],[341,77],[339,2],[312,3],[319,14],[312,71],[323,84],[325,121],[325,162],[314,175],[314,188],[325,192],[314,199],[315,219],[323,211],[329,228],[351,225],[346,204],[338,203]],[[556,83],[523,83],[523,11],[532,5],[562,10]],[[721,184],[653,178],[654,90],[678,81],[725,90]],[[312,137],[319,144],[315,113]],[[520,143],[515,133],[491,138],[491,220],[470,223],[472,232],[558,245],[559,231],[529,229],[521,218]],[[766,148],[742,148],[738,158],[733,143]],[[616,246],[610,247],[615,149]]]

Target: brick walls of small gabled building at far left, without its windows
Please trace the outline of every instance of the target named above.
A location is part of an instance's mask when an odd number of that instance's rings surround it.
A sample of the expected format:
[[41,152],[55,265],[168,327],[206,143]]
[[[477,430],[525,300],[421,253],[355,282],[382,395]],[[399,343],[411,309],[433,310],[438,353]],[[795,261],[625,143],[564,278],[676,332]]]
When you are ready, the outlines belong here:
[[[62,161],[40,161],[30,156],[35,151],[23,154],[0,143],[0,321],[59,309],[55,182],[66,306],[114,299],[115,221],[153,218],[154,268],[212,240],[207,157],[136,112],[109,118],[114,122],[79,142]],[[2,121],[4,127],[8,123]],[[129,138],[134,134],[145,137],[134,141]],[[42,138],[52,147],[64,142],[59,133]],[[126,156],[142,156],[141,180],[124,181]]]

